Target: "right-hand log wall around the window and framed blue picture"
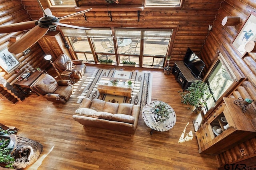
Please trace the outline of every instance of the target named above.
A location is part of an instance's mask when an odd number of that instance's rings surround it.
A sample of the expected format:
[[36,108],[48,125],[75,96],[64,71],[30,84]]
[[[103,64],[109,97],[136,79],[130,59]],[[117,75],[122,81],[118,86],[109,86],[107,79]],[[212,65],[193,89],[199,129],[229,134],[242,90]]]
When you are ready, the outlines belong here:
[[[246,75],[246,80],[232,93],[230,97],[234,99],[250,98],[254,100],[251,104],[256,110],[256,53],[247,53],[244,57],[240,56],[231,46],[233,39],[236,37],[240,28],[251,11],[256,11],[256,2],[250,0],[225,0],[221,3],[218,15],[200,52],[200,57],[206,63],[206,70],[212,65],[216,57],[216,52],[228,53],[234,59],[240,70]],[[226,16],[240,17],[240,24],[234,26],[223,26],[222,20]],[[221,48],[223,45],[224,50]],[[256,111],[253,115],[248,115],[250,119],[256,117]],[[224,169],[225,164],[246,164],[248,167],[255,166],[256,156],[256,137],[237,145],[216,156],[218,166]],[[241,153],[244,150],[244,154]],[[254,161],[252,161],[252,160]],[[250,160],[250,161],[246,161]]]

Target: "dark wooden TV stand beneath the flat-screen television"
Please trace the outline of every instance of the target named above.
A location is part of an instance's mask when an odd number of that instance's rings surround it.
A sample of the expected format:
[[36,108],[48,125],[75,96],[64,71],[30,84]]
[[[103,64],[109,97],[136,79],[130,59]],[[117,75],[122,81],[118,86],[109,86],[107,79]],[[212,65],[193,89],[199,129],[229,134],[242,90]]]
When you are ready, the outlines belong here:
[[175,80],[180,83],[181,88],[186,90],[192,82],[202,81],[202,78],[194,77],[194,74],[190,71],[183,61],[174,62],[174,68],[172,74],[175,76]]

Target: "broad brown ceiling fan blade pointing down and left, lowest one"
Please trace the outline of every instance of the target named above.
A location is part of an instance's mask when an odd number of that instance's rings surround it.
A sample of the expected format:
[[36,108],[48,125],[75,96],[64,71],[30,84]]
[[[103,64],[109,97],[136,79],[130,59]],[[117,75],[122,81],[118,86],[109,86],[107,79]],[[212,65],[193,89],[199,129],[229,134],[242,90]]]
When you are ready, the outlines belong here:
[[49,28],[42,28],[39,25],[36,25],[26,34],[24,34],[18,41],[13,43],[8,51],[10,53],[18,54],[22,53],[29,47],[31,47],[34,43],[36,43],[40,38],[44,36],[44,34],[48,31]]

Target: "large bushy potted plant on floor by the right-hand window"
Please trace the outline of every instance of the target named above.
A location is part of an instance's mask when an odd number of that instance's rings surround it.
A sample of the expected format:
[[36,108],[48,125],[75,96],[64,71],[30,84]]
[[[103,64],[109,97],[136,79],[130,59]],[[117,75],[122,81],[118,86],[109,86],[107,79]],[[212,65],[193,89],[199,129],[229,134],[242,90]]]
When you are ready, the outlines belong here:
[[[192,82],[187,92],[180,92],[181,102],[202,111],[202,108],[206,105],[206,101],[212,96],[210,92],[207,92],[207,89],[208,87],[205,82]],[[192,109],[192,111],[194,111],[194,109]]]

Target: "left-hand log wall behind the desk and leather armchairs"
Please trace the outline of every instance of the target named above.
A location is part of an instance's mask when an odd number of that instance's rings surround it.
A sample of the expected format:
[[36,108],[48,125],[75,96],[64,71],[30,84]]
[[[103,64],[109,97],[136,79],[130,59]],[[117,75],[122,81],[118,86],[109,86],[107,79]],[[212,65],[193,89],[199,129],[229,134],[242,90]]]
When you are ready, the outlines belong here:
[[[10,24],[22,21],[31,20],[30,15],[25,10],[24,5],[20,0],[1,0],[0,3],[0,24]],[[24,32],[6,33],[0,34],[0,49],[9,47],[12,43],[9,38],[12,36],[21,37]],[[15,56],[20,60],[21,65],[18,67],[21,72],[16,73],[15,71],[10,72],[10,74],[5,74],[4,78],[7,80],[6,84],[0,84],[0,94],[4,96],[4,100],[9,100],[12,103],[22,101],[26,96],[13,84],[17,81],[16,77],[22,75],[25,71],[26,63],[29,63],[34,68],[40,67],[45,69],[50,66],[49,62],[43,59],[44,52],[36,43],[31,48],[31,52],[24,56],[22,53],[15,54]],[[2,70],[4,71],[4,70]]]

